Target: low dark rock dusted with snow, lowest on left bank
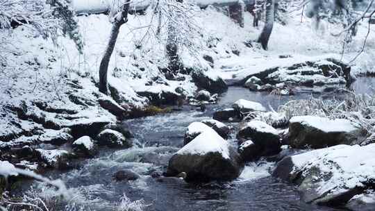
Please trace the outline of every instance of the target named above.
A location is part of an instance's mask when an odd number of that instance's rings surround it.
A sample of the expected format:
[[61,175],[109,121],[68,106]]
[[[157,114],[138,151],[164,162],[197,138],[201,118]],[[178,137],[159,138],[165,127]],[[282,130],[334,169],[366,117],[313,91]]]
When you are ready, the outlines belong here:
[[70,161],[74,158],[72,153],[62,149],[35,149],[39,159],[46,164],[46,167],[56,169],[69,169]]

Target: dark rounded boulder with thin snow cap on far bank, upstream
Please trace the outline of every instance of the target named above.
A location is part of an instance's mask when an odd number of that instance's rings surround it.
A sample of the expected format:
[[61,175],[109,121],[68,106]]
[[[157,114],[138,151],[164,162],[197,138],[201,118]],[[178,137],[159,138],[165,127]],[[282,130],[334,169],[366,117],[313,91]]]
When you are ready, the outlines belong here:
[[213,71],[192,71],[192,79],[202,89],[211,93],[222,93],[228,90],[223,78],[217,76]]

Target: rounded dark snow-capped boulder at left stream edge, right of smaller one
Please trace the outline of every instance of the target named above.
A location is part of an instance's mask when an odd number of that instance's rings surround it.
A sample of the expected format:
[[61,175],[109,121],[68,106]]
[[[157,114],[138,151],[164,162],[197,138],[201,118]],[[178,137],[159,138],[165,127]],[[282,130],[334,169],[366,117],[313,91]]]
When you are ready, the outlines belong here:
[[131,140],[126,139],[122,133],[116,130],[106,129],[97,136],[98,144],[109,147],[131,147]]

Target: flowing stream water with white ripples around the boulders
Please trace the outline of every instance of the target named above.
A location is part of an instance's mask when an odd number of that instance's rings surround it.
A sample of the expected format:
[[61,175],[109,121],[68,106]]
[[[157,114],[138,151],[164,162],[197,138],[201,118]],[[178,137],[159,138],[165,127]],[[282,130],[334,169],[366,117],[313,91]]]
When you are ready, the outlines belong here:
[[[374,83],[366,81],[366,83]],[[369,93],[354,85],[356,92]],[[368,87],[368,86],[367,86]],[[165,115],[132,119],[124,122],[133,132],[137,146],[131,149],[102,150],[97,158],[86,160],[81,167],[67,172],[50,172],[52,178],[61,178],[71,196],[67,207],[60,210],[340,210],[303,203],[294,185],[270,176],[274,162],[249,162],[240,178],[228,183],[188,184],[178,178],[156,180],[150,172],[164,171],[170,156],[183,146],[186,127],[193,121],[211,118],[213,112],[228,108],[238,99],[258,101],[277,108],[292,99],[310,97],[310,90],[299,90],[296,96],[272,96],[249,92],[242,87],[230,87],[215,105],[205,112],[185,106]],[[372,92],[374,93],[374,92]],[[330,93],[314,94],[326,98]],[[235,134],[231,142],[234,142]],[[131,182],[116,182],[113,174],[131,169],[140,178]],[[57,193],[40,183],[33,191],[44,197]],[[121,197],[122,203],[120,204]],[[142,201],[138,201],[141,200]],[[138,201],[138,202],[131,202]]]

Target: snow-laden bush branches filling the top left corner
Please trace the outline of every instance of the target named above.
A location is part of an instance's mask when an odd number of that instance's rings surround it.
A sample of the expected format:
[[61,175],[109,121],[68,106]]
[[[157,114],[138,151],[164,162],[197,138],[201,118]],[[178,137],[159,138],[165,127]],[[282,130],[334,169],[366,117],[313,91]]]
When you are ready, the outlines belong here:
[[0,0],[0,30],[26,25],[35,35],[51,38],[56,42],[59,35],[74,40],[78,51],[83,41],[78,31],[74,9],[69,0]]

